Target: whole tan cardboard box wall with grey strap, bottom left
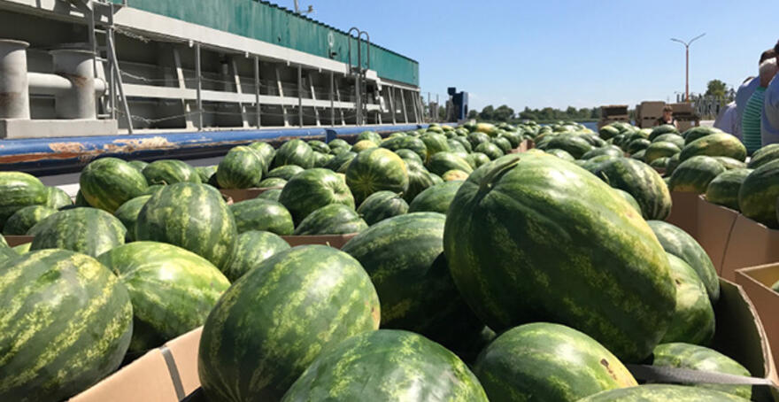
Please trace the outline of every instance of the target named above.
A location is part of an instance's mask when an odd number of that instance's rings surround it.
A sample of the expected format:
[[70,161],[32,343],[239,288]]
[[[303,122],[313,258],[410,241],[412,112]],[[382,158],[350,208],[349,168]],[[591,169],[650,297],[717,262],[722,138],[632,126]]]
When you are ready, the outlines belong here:
[[197,348],[203,328],[146,352],[70,402],[179,402],[200,387]]

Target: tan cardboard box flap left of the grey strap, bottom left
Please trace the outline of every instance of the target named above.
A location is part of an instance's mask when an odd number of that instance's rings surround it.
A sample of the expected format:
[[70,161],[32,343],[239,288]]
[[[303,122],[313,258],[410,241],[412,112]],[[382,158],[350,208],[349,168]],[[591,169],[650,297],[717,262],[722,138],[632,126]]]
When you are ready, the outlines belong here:
[[168,367],[159,349],[147,352],[116,373],[81,392],[70,402],[178,402]]

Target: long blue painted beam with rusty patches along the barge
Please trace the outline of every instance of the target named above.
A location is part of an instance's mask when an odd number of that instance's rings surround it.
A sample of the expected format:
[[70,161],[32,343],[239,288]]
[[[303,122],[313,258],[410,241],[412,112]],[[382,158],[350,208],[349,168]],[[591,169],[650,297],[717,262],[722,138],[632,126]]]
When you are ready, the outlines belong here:
[[208,158],[224,155],[230,148],[255,141],[282,143],[293,138],[325,140],[328,137],[356,135],[366,130],[387,134],[420,127],[427,125],[276,128],[0,140],[0,171],[63,174],[79,171],[89,161],[102,157],[128,160]]

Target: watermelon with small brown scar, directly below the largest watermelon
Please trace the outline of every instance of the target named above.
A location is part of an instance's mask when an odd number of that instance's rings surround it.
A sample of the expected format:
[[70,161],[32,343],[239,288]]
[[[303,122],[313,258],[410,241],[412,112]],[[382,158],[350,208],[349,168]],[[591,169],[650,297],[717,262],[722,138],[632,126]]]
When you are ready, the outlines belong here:
[[[565,351],[565,352],[562,352]],[[576,401],[638,385],[595,339],[564,325],[536,322],[509,329],[474,365],[490,401]]]

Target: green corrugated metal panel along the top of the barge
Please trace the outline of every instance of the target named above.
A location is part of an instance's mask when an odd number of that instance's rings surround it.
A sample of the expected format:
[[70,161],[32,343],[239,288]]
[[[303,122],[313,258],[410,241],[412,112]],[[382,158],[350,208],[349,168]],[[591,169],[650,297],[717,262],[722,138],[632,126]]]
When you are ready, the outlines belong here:
[[[113,1],[122,3],[122,0]],[[145,12],[305,51],[322,58],[333,58],[344,63],[349,61],[350,39],[345,32],[265,1],[127,0],[127,5]],[[331,34],[334,39],[333,48],[328,45],[328,35]],[[356,63],[357,42],[355,39],[351,41],[352,62]],[[336,52],[336,55],[331,56],[331,52]],[[362,44],[362,52],[365,58],[365,43]],[[419,63],[375,44],[371,45],[370,67],[384,79],[413,86],[420,84]]]

